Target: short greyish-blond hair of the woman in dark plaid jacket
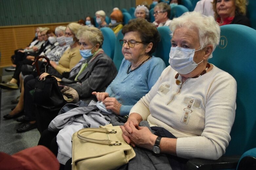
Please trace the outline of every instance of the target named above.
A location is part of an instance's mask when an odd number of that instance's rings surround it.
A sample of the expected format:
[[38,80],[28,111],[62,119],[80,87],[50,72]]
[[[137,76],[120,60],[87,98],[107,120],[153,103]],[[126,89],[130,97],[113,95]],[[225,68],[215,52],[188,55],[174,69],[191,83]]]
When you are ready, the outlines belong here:
[[100,45],[100,48],[102,47],[103,44],[103,35],[102,32],[95,27],[88,27],[88,26],[82,26],[79,28],[77,34],[76,34],[77,39],[87,39],[89,42],[95,46],[96,44]]

